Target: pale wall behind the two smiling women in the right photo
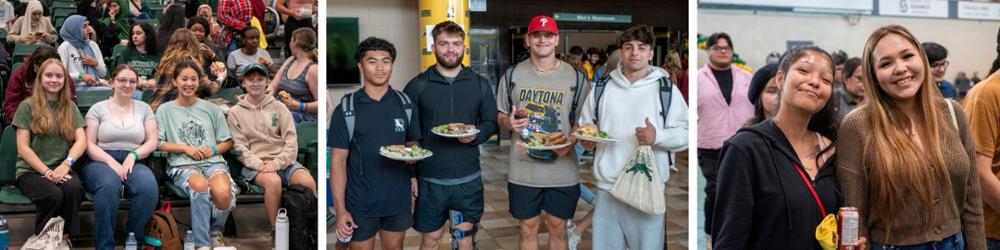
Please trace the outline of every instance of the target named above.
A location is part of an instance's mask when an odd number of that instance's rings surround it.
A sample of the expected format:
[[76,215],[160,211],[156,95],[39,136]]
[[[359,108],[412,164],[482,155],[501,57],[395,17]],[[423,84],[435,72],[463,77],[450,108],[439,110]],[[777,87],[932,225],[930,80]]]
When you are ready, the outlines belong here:
[[[889,24],[906,27],[920,42],[936,42],[947,48],[949,81],[954,81],[958,71],[969,76],[979,71],[979,76],[986,78],[996,57],[1000,22],[877,16],[854,20],[857,22],[852,24],[843,15],[833,14],[698,9],[698,33],[728,33],[736,53],[754,69],[764,65],[768,53],[783,53],[788,40],[811,40],[827,51],[840,49],[850,57],[861,57],[868,35]],[[695,53],[699,67],[708,63],[705,51]]]

